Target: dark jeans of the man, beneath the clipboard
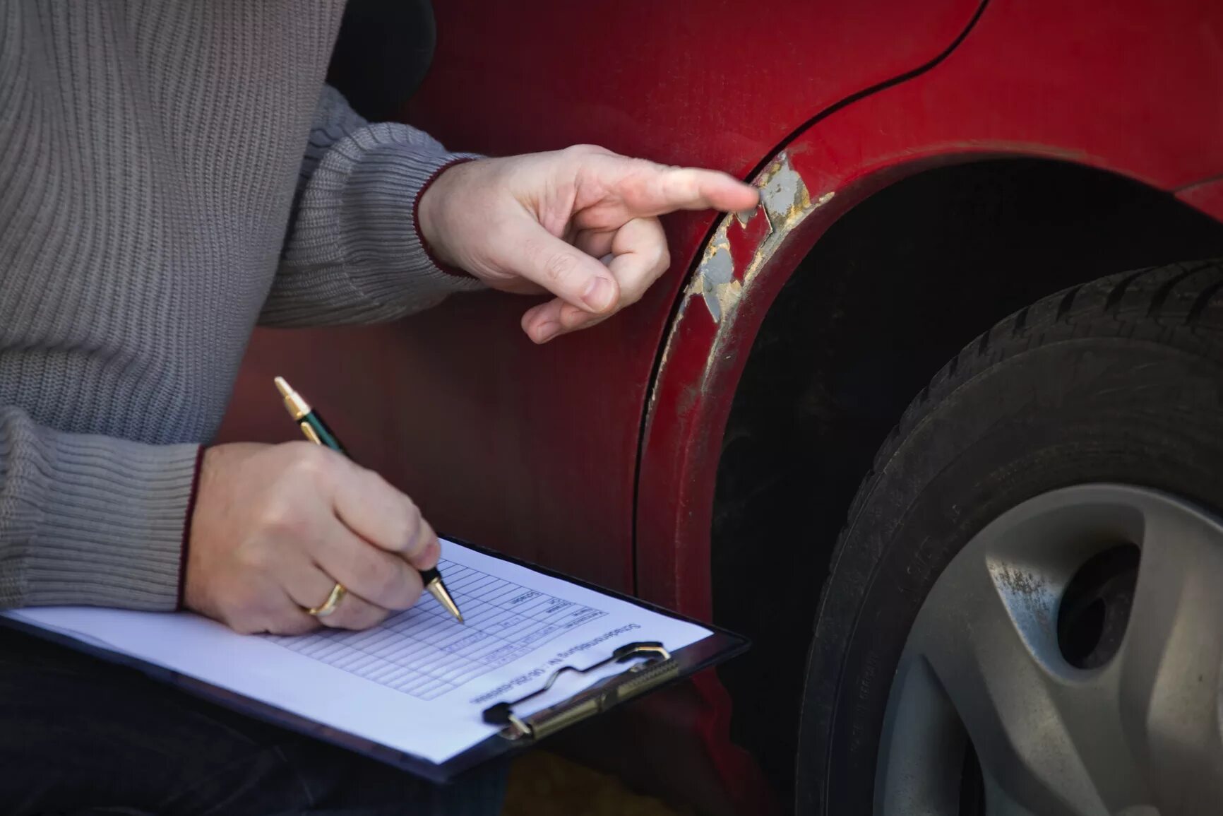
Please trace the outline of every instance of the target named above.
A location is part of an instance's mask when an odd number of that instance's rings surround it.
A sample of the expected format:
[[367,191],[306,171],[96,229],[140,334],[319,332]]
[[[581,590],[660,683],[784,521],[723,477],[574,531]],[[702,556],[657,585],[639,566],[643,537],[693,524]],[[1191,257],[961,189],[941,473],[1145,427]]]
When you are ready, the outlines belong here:
[[495,816],[500,767],[437,787],[0,626],[0,814]]

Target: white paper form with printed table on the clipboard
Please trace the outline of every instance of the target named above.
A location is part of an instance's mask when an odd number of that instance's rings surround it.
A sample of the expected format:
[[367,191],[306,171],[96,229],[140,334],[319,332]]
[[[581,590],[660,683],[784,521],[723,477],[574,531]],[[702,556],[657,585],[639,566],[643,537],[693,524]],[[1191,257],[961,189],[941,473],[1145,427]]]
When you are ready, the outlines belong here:
[[[442,559],[465,624],[428,593],[375,629],[301,637],[237,635],[190,613],[45,607],[2,614],[437,763],[497,730],[482,722],[484,708],[542,688],[561,666],[592,666],[634,641],[674,651],[711,634],[444,540]],[[519,713],[624,668],[566,673]]]

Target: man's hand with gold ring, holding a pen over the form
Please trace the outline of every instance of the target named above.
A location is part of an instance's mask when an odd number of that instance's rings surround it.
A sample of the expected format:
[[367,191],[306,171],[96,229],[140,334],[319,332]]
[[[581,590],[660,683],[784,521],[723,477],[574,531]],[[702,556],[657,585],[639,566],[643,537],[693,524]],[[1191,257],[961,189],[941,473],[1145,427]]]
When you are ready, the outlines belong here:
[[[373,471],[307,442],[204,451],[186,604],[240,632],[366,629],[421,596],[438,537]],[[336,610],[314,618],[339,581]]]

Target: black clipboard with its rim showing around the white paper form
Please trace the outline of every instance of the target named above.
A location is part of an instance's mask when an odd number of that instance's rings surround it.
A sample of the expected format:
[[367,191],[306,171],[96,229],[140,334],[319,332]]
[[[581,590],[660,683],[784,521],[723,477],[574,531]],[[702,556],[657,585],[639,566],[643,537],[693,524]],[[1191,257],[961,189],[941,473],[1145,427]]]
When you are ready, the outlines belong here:
[[[623,647],[626,663],[631,661],[631,663],[626,666],[625,672],[587,686],[570,699],[543,711],[536,712],[530,717],[519,718],[514,714],[512,703],[515,700],[503,700],[500,703],[492,703],[488,710],[486,710],[486,722],[497,722],[498,724],[501,724],[501,729],[492,736],[484,739],[482,743],[477,743],[462,754],[459,754],[445,762],[437,763],[412,754],[406,754],[399,749],[393,749],[380,743],[372,741],[363,736],[324,725],[263,701],[252,700],[245,695],[204,683],[203,680],[175,672],[174,669],[169,669],[164,666],[150,663],[124,652],[111,651],[98,644],[78,640],[70,635],[27,624],[13,618],[0,617],[0,623],[35,637],[42,637],[62,646],[67,646],[111,663],[135,668],[155,680],[168,683],[181,691],[208,700],[209,702],[215,702],[248,717],[272,723],[273,725],[279,725],[325,743],[331,743],[333,745],[338,745],[350,751],[356,751],[357,754],[385,762],[386,765],[401,768],[408,773],[438,784],[455,782],[467,771],[484,765],[486,762],[498,759],[508,759],[512,755],[521,754],[553,734],[560,733],[572,725],[576,725],[577,723],[586,722],[587,719],[614,708],[631,699],[636,699],[658,689],[680,683],[697,672],[741,655],[747,651],[750,646],[747,639],[741,635],[733,634],[725,629],[713,626],[704,621],[676,614],[656,604],[641,601],[640,598],[605,590],[587,581],[570,577],[555,570],[537,566],[522,559],[498,553],[487,547],[472,544],[461,538],[454,538],[445,535],[440,537],[470,549],[475,549],[492,558],[525,566],[543,575],[549,575],[552,577],[582,586],[608,597],[619,598],[620,601],[667,615],[668,618],[696,624],[709,630],[712,634],[703,640],[676,651],[667,650],[665,644],[636,642],[631,636],[625,637],[625,644],[621,644],[620,646]],[[632,652],[631,655],[629,653],[630,651]],[[593,659],[589,661],[589,663],[594,662],[596,661]],[[556,673],[565,672],[566,669],[581,672],[587,668],[592,667],[588,663],[576,663],[567,667],[560,667],[556,669]],[[550,679],[552,678],[547,677],[541,678],[539,686]],[[534,688],[527,688],[522,691],[515,691],[514,694],[517,695],[517,701],[521,701],[523,697],[530,696]]]

